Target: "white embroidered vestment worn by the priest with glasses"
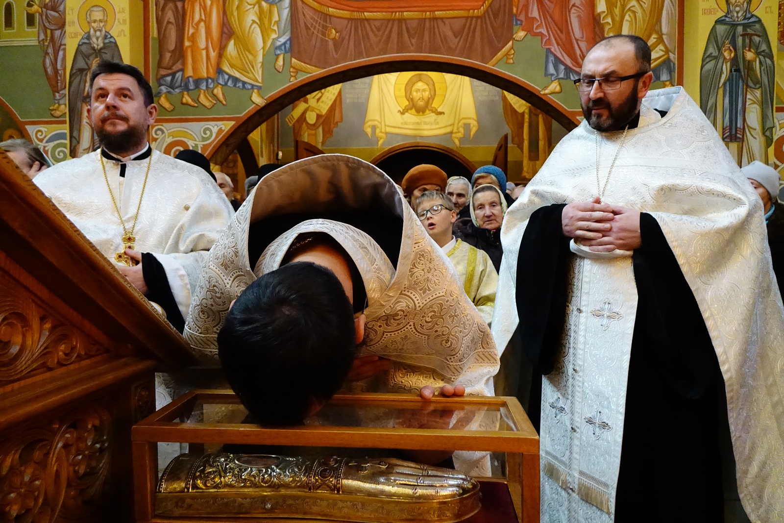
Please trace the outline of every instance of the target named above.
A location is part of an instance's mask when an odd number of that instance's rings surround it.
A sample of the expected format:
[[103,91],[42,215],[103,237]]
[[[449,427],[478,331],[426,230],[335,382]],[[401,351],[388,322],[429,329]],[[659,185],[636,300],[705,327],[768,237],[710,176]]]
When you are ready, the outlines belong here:
[[[600,173],[608,173],[621,135],[598,133]],[[517,258],[528,219],[545,205],[596,197],[596,139],[586,122],[569,133],[506,213],[492,322],[499,347],[518,323]],[[762,205],[681,87],[644,98],[603,201],[659,223],[724,376],[743,507],[751,521],[784,521],[784,307]],[[613,521],[637,287],[630,252],[594,256],[574,245],[572,252],[561,352],[543,377],[542,521]]]

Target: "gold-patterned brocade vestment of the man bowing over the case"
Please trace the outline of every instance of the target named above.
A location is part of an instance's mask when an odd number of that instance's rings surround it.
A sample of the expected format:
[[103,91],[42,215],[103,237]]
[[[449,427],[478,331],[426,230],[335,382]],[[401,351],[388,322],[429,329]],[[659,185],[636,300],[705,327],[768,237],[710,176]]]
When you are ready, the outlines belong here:
[[[322,187],[323,191],[287,193],[292,187]],[[330,220],[299,223],[270,244],[256,271],[251,270],[247,252],[251,220],[296,212],[299,207],[363,209],[373,198],[403,218],[397,271],[367,234]],[[361,354],[430,369],[445,383],[459,382],[474,394],[492,394],[498,353],[488,325],[463,292],[454,267],[387,176],[358,158],[337,154],[307,158],[265,176],[216,242],[184,332],[198,355],[214,363],[217,333],[231,301],[258,276],[279,267],[298,234],[314,231],[326,232],[343,245],[365,283],[368,308]]]

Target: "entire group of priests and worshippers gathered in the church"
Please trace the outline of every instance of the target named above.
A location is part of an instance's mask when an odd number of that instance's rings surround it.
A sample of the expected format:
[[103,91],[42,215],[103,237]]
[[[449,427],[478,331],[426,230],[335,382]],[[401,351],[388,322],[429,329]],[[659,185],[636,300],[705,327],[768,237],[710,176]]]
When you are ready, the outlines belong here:
[[[198,152],[152,149],[149,83],[107,62],[100,150],[46,168],[0,147],[258,423],[301,423],[341,387],[492,395],[515,375],[542,521],[782,521],[779,173],[738,169],[652,78],[644,40],[598,42],[585,120],[526,187],[492,165],[417,165],[398,187],[325,154],[264,165],[238,205]],[[489,473],[449,454],[418,459]]]

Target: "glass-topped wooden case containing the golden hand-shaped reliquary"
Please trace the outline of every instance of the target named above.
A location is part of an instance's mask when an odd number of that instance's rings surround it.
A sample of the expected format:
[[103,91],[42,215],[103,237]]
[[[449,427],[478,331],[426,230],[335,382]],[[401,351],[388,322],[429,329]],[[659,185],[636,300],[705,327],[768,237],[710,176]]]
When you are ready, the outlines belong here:
[[[132,441],[137,521],[539,521],[539,438],[516,398],[345,394],[267,428],[230,390],[194,390]],[[159,442],[187,453],[159,463]]]

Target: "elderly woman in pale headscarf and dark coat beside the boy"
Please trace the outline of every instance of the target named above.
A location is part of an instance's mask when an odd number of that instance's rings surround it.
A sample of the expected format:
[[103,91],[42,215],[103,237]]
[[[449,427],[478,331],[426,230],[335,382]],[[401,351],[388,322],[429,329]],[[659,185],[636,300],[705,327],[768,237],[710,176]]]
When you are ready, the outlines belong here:
[[495,271],[501,267],[501,224],[506,214],[506,200],[498,187],[487,183],[474,189],[471,194],[470,218],[457,220],[452,231],[460,238],[477,249],[488,253]]

